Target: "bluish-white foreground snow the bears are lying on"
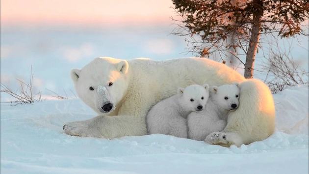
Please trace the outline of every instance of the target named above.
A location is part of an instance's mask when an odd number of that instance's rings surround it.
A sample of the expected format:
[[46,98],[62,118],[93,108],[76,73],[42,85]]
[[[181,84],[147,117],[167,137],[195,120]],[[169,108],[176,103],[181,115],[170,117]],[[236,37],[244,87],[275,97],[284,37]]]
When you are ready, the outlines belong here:
[[1,103],[1,174],[308,174],[308,87],[275,94],[277,131],[237,148],[165,135],[114,140],[62,132],[95,112],[79,99]]

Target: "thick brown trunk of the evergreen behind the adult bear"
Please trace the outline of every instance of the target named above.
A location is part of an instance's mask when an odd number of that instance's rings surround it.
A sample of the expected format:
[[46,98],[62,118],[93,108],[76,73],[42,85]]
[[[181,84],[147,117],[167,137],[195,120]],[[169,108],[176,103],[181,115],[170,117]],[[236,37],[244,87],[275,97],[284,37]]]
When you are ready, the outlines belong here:
[[253,0],[254,7],[257,10],[253,15],[253,24],[251,29],[250,43],[246,56],[245,63],[245,78],[252,79],[254,71],[254,62],[258,50],[258,42],[260,36],[260,18],[263,16],[263,2],[262,0]]

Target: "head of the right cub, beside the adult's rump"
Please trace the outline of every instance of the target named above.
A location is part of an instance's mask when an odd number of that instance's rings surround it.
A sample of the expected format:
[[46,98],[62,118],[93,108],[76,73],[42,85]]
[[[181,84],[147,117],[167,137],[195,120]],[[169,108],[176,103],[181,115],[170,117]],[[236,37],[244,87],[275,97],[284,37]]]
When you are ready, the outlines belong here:
[[211,88],[212,100],[225,110],[236,110],[239,106],[239,87],[237,83],[232,85],[213,86]]

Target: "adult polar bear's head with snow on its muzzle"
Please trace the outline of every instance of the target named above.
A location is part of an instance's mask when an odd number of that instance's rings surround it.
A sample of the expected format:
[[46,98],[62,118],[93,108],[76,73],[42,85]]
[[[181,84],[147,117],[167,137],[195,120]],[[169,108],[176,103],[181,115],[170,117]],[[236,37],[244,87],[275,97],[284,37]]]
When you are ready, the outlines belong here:
[[82,69],[72,69],[77,95],[99,114],[114,111],[126,94],[129,64],[115,58],[95,58]]

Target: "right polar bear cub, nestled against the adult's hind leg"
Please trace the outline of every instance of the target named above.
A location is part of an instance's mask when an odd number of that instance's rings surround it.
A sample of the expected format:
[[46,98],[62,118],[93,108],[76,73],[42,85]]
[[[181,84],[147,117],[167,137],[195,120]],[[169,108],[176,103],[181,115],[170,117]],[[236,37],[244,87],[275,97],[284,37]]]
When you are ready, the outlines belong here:
[[188,115],[188,138],[204,141],[212,132],[221,131],[227,124],[227,115],[239,106],[238,84],[212,87],[204,111]]

